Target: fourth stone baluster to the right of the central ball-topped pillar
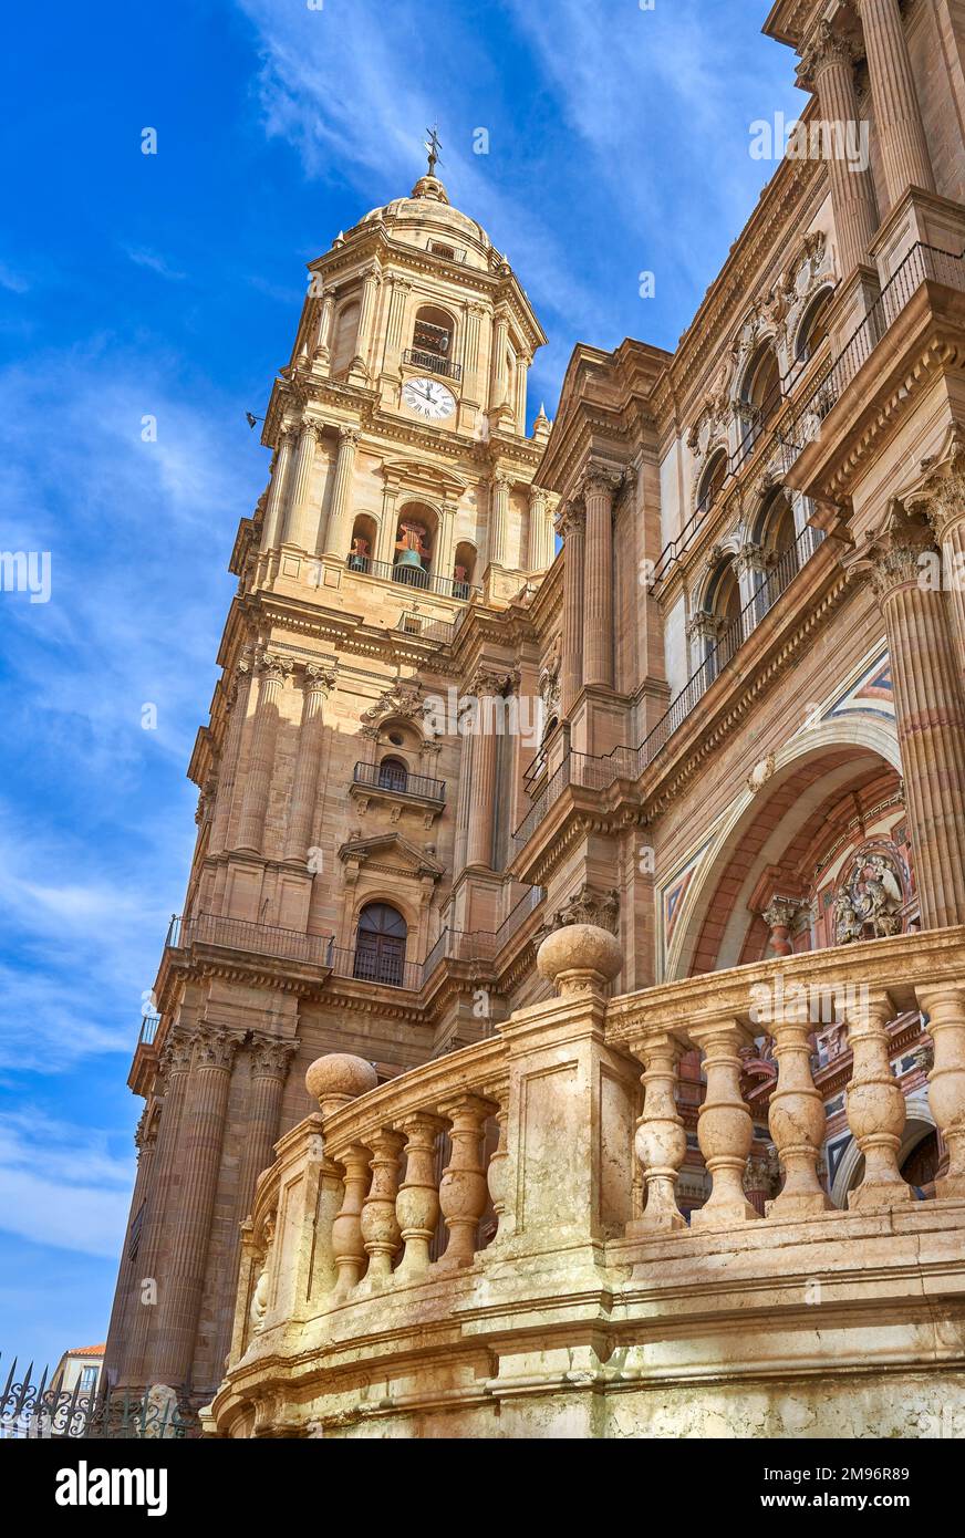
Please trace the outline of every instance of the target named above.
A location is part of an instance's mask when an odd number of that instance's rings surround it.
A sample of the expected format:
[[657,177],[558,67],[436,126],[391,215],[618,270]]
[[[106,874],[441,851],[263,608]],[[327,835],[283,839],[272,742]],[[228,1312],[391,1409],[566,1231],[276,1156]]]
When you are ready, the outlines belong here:
[[848,1192],[848,1206],[860,1212],[911,1201],[911,1187],[897,1167],[905,1097],[891,1072],[888,1021],[896,1014],[887,994],[862,994],[859,1003],[848,1006],[848,1046],[854,1064],[845,1103],[851,1135],[865,1155],[865,1178],[857,1190]]

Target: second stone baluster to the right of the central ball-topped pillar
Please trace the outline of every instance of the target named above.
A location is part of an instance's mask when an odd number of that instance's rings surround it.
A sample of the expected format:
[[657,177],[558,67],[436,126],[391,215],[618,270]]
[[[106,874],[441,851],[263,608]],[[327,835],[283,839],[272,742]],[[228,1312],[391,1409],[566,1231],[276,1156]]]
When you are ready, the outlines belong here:
[[740,1047],[753,1034],[736,1021],[691,1029],[703,1052],[706,1095],[697,1117],[697,1141],[711,1175],[706,1203],[691,1213],[691,1227],[731,1227],[759,1218],[743,1192],[743,1170],[754,1124],[740,1094]]

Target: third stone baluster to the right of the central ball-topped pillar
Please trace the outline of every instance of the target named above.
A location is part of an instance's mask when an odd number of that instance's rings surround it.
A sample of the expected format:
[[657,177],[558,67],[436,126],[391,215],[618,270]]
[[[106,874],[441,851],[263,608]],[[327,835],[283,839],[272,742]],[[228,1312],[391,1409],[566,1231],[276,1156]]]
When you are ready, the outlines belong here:
[[783,1169],[783,1187],[768,1212],[774,1218],[810,1218],[831,1207],[817,1178],[826,1118],[811,1074],[806,1006],[800,1014],[802,1018],[793,1018],[796,1010],[785,1009],[783,1018],[768,1024],[777,1063],[777,1089],[771,1092],[768,1127]]

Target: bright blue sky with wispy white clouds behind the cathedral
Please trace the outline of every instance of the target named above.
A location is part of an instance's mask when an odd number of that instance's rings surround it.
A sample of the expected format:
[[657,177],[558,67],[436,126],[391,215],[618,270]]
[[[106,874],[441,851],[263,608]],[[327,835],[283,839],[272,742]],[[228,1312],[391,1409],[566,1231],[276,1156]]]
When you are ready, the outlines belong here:
[[[803,97],[765,0],[171,0],[18,8],[0,62],[0,1353],[102,1340],[142,995],[180,909],[239,517],[305,263],[442,175],[549,335],[673,348]],[[142,154],[142,129],[157,155]],[[489,154],[472,152],[477,128]],[[642,300],[639,274],[656,274]],[[142,418],[157,441],[142,441]],[[142,727],[154,704],[157,727]]]

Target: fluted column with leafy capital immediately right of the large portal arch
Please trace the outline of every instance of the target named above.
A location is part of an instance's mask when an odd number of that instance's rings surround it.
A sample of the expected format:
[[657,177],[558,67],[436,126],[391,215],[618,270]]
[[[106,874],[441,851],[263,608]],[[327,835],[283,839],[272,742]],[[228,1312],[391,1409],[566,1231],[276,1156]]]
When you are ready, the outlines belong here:
[[927,927],[965,923],[965,701],[945,595],[927,580],[928,524],[896,504],[857,564],[871,569],[894,680],[916,886]]

